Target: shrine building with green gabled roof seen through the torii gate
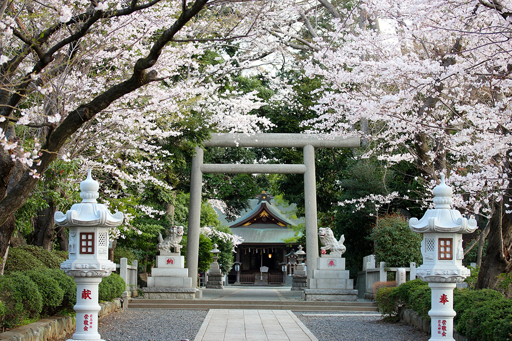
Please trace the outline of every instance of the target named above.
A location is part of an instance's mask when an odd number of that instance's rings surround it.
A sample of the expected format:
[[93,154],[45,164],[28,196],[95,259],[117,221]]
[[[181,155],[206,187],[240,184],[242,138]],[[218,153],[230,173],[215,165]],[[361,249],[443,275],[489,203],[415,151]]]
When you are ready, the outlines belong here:
[[233,234],[243,238],[234,255],[235,262],[229,273],[230,284],[283,285],[294,268],[292,240],[295,232],[288,226],[296,224],[274,204],[272,196],[263,191],[257,196],[258,204],[252,211],[235,221],[230,227]]

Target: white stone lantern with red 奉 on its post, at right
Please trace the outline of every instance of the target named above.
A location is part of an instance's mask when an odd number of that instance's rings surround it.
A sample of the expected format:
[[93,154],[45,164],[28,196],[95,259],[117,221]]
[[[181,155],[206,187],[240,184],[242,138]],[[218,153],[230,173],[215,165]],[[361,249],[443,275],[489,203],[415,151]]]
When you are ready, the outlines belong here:
[[411,230],[423,234],[423,265],[416,269],[416,276],[429,282],[432,289],[432,309],[429,311],[432,337],[429,341],[455,341],[453,289],[470,276],[470,270],[462,265],[462,234],[472,233],[478,227],[475,219],[464,218],[451,208],[452,195],[452,188],[445,184],[444,175],[441,175],[441,184],[434,188],[435,209],[427,210],[420,220],[409,220]]

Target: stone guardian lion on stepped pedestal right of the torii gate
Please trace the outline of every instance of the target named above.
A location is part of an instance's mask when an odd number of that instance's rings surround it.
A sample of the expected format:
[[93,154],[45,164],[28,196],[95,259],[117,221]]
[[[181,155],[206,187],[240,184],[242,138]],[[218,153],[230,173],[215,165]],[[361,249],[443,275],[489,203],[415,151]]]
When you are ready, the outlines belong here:
[[[346,251],[345,236],[339,241],[334,238],[330,228],[319,228],[318,236],[322,242],[321,254],[317,259],[313,278],[308,278],[308,288],[304,289],[305,301],[355,301],[357,290],[354,290],[354,280],[349,279],[349,270],[345,270]],[[327,251],[330,253],[327,254]],[[310,264],[309,266],[312,266]]]

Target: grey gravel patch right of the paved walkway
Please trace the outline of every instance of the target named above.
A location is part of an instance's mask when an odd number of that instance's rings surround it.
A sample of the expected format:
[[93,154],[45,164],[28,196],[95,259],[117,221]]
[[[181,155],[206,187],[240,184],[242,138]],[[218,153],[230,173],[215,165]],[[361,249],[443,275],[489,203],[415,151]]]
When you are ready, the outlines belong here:
[[429,334],[409,325],[383,322],[380,316],[335,312],[332,313],[335,316],[326,316],[329,314],[295,312],[319,341],[428,341],[430,338]]

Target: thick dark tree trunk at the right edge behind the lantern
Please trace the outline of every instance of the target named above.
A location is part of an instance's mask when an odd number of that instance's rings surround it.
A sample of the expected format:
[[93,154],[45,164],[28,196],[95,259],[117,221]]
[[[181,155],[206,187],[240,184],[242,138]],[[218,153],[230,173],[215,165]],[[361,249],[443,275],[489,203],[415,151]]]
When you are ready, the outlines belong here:
[[[495,203],[495,206],[501,206],[501,202]],[[478,274],[477,289],[494,289],[497,284],[496,276],[512,270],[510,257],[512,220],[509,214],[502,214],[502,212],[501,209],[495,209],[490,221],[487,251]]]

